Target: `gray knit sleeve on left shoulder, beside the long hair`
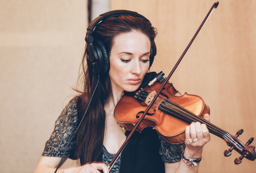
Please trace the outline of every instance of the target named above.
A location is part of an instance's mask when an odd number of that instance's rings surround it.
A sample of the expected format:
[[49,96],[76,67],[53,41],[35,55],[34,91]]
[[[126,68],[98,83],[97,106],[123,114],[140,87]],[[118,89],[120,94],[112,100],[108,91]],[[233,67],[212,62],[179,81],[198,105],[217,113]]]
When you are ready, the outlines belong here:
[[[62,110],[61,115],[55,122],[54,131],[45,143],[42,156],[62,157],[68,142],[71,140],[77,128],[77,98],[73,98]],[[75,150],[75,137],[70,142],[65,156],[73,157]]]

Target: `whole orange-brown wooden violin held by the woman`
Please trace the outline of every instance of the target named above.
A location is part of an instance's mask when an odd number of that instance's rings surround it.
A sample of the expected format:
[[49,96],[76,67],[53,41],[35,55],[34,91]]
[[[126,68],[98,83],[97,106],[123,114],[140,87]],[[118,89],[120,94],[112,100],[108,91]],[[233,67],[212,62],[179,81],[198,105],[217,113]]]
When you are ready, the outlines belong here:
[[[163,74],[160,72],[156,75],[155,72],[151,72],[149,75],[154,75],[153,80],[150,80],[144,88],[131,93],[125,92],[114,110],[114,118],[121,127],[126,130],[134,128],[144,113],[145,107],[148,107],[156,95],[156,91],[162,85],[161,81],[165,80]],[[172,144],[178,144],[185,141],[185,129],[191,122],[201,122],[206,124],[210,133],[220,137],[231,147],[224,152],[224,156],[230,156],[233,149],[241,154],[239,158],[235,159],[235,164],[241,163],[243,158],[252,161],[256,159],[255,146],[250,146],[253,137],[246,144],[243,144],[237,139],[242,134],[242,129],[235,136],[232,136],[202,118],[204,114],[210,114],[210,109],[201,97],[188,93],[177,96],[177,93],[179,92],[173,84],[167,82],[138,126],[137,131],[141,132],[146,127],[153,127],[160,137]]]

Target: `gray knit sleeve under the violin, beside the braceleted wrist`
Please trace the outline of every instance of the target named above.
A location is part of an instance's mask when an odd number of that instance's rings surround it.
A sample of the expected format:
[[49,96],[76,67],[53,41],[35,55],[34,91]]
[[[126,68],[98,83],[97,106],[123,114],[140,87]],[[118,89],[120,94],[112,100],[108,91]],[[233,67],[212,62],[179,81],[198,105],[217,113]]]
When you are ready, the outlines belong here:
[[159,154],[162,157],[164,163],[175,163],[180,161],[181,154],[185,150],[185,143],[181,144],[170,144],[163,137],[159,137],[160,148]]

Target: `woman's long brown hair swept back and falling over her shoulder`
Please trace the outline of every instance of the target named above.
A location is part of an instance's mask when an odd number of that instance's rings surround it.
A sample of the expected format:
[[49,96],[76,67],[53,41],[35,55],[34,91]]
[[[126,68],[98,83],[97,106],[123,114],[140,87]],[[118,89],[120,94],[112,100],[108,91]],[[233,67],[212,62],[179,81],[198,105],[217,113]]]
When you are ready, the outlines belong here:
[[[109,17],[100,22],[93,31],[93,38],[100,39],[109,56],[114,42],[114,38],[119,34],[139,31],[149,37],[150,42],[156,37],[156,29],[151,23],[145,22],[142,18],[130,15],[120,15]],[[98,78],[93,72],[92,63],[86,56],[86,51],[81,63],[83,69],[80,75],[83,89],[78,96],[81,99],[81,112],[83,116],[92,92],[95,89]],[[80,164],[96,161],[103,148],[104,129],[105,129],[105,110],[104,104],[111,93],[111,83],[108,74],[100,74],[99,85],[96,88],[92,102],[88,107],[85,119],[77,133],[75,155],[80,159]]]

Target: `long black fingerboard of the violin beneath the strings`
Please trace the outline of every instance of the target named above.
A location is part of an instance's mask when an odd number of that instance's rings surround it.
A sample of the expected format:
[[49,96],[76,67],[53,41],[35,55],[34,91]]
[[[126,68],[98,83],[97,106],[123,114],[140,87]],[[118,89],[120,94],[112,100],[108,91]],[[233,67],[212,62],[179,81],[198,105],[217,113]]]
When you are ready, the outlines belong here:
[[210,133],[222,139],[225,139],[225,136],[229,135],[228,132],[220,129],[219,127],[211,124],[207,120],[202,119],[201,117],[193,114],[183,107],[180,107],[171,100],[164,99],[163,102],[159,105],[158,109],[189,124],[192,122],[200,122],[201,124],[206,124]]

